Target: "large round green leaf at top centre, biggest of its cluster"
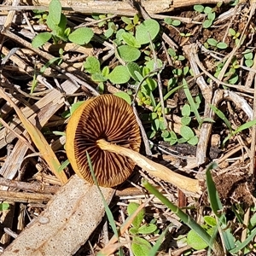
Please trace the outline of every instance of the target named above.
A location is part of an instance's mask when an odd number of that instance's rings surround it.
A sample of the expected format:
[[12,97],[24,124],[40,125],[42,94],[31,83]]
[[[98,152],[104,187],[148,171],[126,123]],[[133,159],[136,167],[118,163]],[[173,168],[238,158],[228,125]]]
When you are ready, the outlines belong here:
[[139,44],[148,44],[150,42],[150,39],[153,41],[159,32],[159,23],[156,20],[148,19],[144,20],[143,23],[137,26],[135,38],[137,39],[137,42]]

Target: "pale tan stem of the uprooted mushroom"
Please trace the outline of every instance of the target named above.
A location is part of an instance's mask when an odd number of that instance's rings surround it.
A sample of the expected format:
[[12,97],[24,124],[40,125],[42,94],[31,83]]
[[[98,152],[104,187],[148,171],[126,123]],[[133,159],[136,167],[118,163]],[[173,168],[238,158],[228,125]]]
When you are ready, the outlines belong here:
[[201,186],[197,179],[185,177],[177,172],[172,172],[172,170],[168,169],[166,166],[162,166],[152,160],[148,160],[148,158],[131,150],[130,148],[124,148],[113,143],[108,143],[104,139],[99,139],[96,143],[97,146],[102,150],[122,154],[131,158],[131,160],[133,160],[137,166],[140,166],[149,174],[153,175],[154,177],[159,177],[166,182],[172,183],[178,189],[201,194]]

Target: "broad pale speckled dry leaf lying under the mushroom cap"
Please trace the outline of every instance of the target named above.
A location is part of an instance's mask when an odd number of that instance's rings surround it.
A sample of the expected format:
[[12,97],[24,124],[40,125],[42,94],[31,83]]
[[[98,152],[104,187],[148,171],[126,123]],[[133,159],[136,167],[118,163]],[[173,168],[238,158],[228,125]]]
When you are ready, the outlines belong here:
[[[101,189],[109,203],[114,190]],[[104,214],[102,198],[96,186],[75,175],[1,255],[72,255],[87,241]]]

